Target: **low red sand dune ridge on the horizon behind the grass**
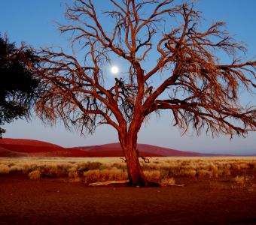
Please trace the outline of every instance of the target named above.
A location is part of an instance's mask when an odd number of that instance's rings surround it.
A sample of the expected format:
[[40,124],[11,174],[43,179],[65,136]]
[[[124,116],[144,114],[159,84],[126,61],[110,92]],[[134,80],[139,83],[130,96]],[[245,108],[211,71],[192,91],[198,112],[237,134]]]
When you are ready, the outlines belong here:
[[[178,151],[155,145],[138,144],[141,156],[204,156],[193,151]],[[0,139],[0,157],[123,157],[120,143],[63,148],[35,139]]]

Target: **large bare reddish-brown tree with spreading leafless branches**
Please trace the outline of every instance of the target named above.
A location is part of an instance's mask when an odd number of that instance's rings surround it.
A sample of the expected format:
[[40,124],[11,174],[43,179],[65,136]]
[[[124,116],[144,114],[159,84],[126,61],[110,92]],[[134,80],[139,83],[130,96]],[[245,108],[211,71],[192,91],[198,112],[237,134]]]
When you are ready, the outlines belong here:
[[[99,15],[93,0],[76,0],[67,7],[71,23],[59,29],[72,32],[72,43],[81,46],[79,57],[53,48],[39,52],[42,64],[35,69],[46,91],[37,104],[41,118],[61,118],[66,127],[82,132],[110,124],[117,130],[130,183],[141,186],[148,181],[139,163],[137,135],[151,113],[169,110],[174,125],[184,132],[244,136],[255,130],[255,108],[239,104],[239,90],[253,92],[256,62],[236,57],[245,47],[229,36],[224,23],[203,29],[193,2],[109,4],[111,10]],[[218,58],[223,53],[229,63]],[[108,86],[102,66],[112,55],[126,61],[130,70]]]

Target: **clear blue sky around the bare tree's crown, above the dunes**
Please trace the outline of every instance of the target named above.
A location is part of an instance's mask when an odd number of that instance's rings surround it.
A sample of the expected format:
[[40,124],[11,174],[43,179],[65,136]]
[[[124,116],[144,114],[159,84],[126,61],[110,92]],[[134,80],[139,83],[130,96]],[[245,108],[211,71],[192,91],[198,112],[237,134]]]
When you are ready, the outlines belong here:
[[[21,41],[29,43],[35,48],[47,46],[62,46],[69,49],[65,36],[60,36],[56,23],[66,23],[63,17],[65,2],[71,0],[8,0],[1,1],[0,7],[0,32],[7,32],[11,41],[20,44]],[[107,0],[94,0],[97,7],[107,7]],[[197,9],[202,11],[204,24],[223,20],[227,22],[230,34],[246,44],[248,53],[246,58],[252,60],[256,55],[256,29],[255,13],[256,1],[254,0],[200,0],[196,3]],[[118,62],[117,62],[118,63]],[[124,65],[125,67],[125,65]],[[111,79],[111,78],[109,78]],[[255,104],[254,98],[242,95],[242,101]],[[41,139],[62,146],[99,145],[108,142],[117,142],[117,133],[113,128],[101,126],[93,136],[80,136],[78,131],[66,131],[61,123],[55,127],[42,124],[38,118],[33,118],[29,123],[25,120],[14,121],[6,124],[5,137]],[[146,122],[139,133],[139,142],[153,145],[176,148],[184,151],[223,152],[228,154],[256,154],[256,133],[248,133],[247,138],[233,138],[220,136],[196,136],[188,133],[181,136],[177,127],[172,127],[172,118],[168,113],[160,117],[153,115]]]

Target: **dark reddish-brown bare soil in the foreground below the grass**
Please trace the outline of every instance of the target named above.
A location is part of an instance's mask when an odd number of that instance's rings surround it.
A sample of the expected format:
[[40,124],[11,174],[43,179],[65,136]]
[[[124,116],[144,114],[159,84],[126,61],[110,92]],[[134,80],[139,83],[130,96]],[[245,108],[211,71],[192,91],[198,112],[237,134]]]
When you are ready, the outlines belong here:
[[178,180],[184,187],[85,187],[0,176],[0,224],[256,224],[256,187]]

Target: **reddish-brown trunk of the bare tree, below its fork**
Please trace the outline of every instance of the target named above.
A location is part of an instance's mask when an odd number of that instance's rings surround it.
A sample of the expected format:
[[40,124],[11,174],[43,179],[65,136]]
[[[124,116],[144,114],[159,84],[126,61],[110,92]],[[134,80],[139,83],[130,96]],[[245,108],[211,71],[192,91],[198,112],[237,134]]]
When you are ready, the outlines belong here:
[[148,186],[148,180],[142,171],[142,166],[139,163],[139,152],[137,150],[137,138],[133,139],[133,135],[128,135],[126,139],[120,140],[120,145],[123,148],[124,156],[126,157],[126,166],[130,184],[137,187]]

